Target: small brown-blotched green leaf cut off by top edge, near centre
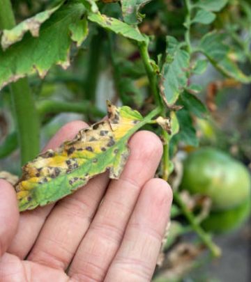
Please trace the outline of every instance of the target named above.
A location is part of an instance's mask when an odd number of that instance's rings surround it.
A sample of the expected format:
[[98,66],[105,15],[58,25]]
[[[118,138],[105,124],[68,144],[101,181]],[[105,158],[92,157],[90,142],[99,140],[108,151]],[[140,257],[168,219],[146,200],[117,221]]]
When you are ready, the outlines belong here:
[[139,9],[151,0],[121,0],[123,19],[127,24],[138,24],[144,18]]

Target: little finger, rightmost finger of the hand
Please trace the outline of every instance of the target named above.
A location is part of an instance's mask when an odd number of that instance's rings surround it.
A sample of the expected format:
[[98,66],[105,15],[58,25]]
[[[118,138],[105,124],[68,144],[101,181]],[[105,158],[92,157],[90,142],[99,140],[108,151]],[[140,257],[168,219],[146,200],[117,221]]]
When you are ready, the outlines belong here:
[[167,182],[152,179],[146,183],[105,282],[151,281],[171,203]]

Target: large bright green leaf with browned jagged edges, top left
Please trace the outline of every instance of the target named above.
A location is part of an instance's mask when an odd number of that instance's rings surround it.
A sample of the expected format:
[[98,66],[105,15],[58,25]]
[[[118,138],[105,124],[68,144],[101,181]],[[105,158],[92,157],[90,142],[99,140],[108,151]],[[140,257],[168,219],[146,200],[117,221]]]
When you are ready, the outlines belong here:
[[85,8],[78,1],[63,4],[40,26],[38,38],[26,33],[5,52],[0,50],[0,89],[35,72],[45,77],[55,64],[67,68],[73,40],[80,45],[86,38],[84,13]]

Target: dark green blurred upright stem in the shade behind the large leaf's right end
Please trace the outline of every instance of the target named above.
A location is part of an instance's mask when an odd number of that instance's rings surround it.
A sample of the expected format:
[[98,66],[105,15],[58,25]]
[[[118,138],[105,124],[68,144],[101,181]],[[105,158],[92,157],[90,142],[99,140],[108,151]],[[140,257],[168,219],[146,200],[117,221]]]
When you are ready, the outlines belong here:
[[102,41],[104,31],[98,29],[98,33],[91,38],[91,44],[89,47],[89,62],[87,75],[84,83],[85,97],[87,100],[95,103],[96,101],[96,89],[97,81],[100,70],[100,55],[102,51]]

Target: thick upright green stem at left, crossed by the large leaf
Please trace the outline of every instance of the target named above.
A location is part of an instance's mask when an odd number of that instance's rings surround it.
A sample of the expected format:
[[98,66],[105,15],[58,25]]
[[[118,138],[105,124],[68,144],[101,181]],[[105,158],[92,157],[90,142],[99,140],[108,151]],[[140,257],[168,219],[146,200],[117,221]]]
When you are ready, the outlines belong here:
[[[10,0],[0,0],[0,29],[15,26]],[[33,95],[26,78],[10,85],[10,93],[15,111],[21,163],[25,164],[39,152],[39,119]]]

